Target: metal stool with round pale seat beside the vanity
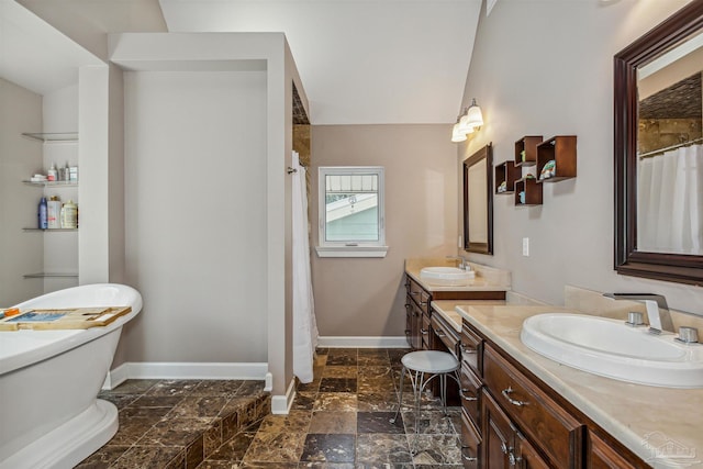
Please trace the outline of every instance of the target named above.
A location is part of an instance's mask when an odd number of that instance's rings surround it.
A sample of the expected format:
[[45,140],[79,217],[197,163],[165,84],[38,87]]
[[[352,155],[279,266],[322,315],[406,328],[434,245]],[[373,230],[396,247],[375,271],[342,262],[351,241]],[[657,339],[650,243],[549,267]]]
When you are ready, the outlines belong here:
[[[410,381],[413,384],[413,397],[415,398],[415,434],[420,432],[420,398],[425,387],[434,378],[439,377],[439,395],[444,414],[447,415],[447,376],[453,378],[459,384],[459,360],[447,351],[439,350],[417,350],[405,354],[400,360],[403,369],[400,373],[400,394],[398,399],[398,411],[391,423],[395,423],[403,405],[403,378],[405,371],[410,375]],[[425,375],[429,375],[425,379]]]

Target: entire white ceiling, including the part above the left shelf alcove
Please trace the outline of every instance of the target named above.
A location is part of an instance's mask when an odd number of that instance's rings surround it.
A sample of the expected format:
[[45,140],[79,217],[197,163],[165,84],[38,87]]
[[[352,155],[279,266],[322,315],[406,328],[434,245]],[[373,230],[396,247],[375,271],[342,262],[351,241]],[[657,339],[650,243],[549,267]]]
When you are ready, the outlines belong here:
[[[317,125],[454,122],[481,1],[18,0],[97,55],[112,32],[283,32]],[[22,5],[0,0],[0,77],[76,82],[96,57]]]

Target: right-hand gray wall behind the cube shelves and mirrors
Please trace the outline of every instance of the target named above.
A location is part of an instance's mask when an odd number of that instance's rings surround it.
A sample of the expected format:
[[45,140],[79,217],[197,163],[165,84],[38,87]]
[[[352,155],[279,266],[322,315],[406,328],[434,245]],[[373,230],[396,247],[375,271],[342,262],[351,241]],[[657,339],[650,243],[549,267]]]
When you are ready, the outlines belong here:
[[495,255],[471,255],[510,269],[514,290],[550,303],[562,302],[565,283],[651,291],[674,309],[703,312],[700,288],[613,270],[613,55],[685,3],[501,0],[482,13],[464,101],[478,99],[486,125],[458,159],[493,142],[499,164],[524,135],[578,135],[578,177],[545,185],[540,208],[496,197]]

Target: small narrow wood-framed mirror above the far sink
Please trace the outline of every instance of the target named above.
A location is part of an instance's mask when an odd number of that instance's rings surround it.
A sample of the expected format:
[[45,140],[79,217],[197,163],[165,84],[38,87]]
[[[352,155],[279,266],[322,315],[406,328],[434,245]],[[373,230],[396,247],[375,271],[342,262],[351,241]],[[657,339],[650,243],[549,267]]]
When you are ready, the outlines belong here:
[[493,155],[491,144],[464,161],[464,248],[493,254]]

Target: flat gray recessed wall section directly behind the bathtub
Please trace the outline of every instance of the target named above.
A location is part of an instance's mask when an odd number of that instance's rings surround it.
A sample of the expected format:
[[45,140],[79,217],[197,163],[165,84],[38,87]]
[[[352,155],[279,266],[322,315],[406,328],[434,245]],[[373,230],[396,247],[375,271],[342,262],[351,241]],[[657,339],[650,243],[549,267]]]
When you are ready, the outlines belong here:
[[266,72],[125,72],[127,361],[267,361]]

